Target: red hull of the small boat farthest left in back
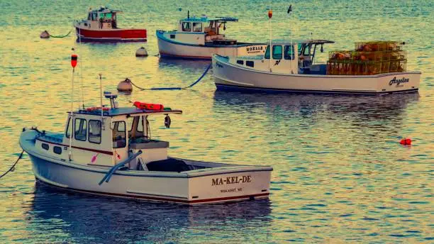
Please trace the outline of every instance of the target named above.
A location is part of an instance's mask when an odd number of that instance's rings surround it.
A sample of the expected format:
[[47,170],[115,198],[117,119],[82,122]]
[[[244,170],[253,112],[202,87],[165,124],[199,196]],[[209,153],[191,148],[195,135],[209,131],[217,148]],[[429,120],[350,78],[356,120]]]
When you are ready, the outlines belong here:
[[87,40],[146,40],[146,29],[76,30],[77,36]]

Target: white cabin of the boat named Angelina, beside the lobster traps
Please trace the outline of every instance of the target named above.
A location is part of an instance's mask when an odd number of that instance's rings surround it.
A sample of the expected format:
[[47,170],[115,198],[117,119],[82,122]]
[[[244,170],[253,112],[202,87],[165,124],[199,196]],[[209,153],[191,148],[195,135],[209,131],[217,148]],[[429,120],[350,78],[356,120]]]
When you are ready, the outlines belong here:
[[329,40],[306,40],[301,43],[274,41],[267,45],[265,54],[256,57],[233,57],[230,62],[267,72],[284,74],[326,74],[326,64],[314,62],[316,49]]

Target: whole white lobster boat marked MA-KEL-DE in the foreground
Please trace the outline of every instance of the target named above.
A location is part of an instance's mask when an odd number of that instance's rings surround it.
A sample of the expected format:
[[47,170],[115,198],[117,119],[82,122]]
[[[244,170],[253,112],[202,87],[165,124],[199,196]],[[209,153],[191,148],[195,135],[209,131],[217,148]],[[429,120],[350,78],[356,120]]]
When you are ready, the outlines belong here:
[[65,133],[23,129],[20,145],[36,179],[72,191],[182,204],[268,197],[272,167],[168,157],[169,143],[150,138],[148,116],[166,115],[169,127],[169,114],[182,111],[140,102],[118,108],[116,95],[106,97],[111,109],[68,113]]

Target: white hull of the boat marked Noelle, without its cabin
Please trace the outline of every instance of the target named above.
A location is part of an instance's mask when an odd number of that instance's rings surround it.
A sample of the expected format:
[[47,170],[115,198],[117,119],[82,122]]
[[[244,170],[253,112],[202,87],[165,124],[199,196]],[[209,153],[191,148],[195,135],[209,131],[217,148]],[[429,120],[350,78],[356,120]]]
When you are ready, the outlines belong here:
[[243,43],[238,45],[193,45],[179,43],[165,37],[165,32],[157,30],[158,50],[161,57],[211,60],[213,54],[218,55],[252,55],[265,51],[260,43]]

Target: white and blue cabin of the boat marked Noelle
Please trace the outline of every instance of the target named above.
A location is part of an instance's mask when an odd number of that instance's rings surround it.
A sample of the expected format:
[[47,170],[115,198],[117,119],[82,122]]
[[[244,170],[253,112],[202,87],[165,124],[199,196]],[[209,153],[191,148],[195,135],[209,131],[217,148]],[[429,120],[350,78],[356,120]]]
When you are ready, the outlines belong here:
[[184,18],[179,21],[178,30],[169,33],[169,39],[195,45],[235,45],[237,41],[226,39],[221,29],[226,30],[226,23],[237,21],[238,18],[228,17],[193,16]]

